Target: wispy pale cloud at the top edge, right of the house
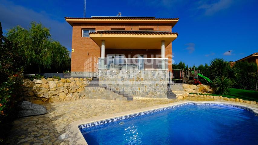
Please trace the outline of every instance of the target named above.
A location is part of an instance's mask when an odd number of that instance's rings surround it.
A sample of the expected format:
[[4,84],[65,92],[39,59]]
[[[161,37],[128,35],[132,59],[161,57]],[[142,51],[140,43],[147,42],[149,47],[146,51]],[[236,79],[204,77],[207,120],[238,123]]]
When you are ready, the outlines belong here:
[[207,3],[202,4],[198,8],[204,9],[205,15],[213,15],[220,10],[229,8],[232,5],[232,3],[233,3],[233,0],[219,0],[211,4],[207,4]]

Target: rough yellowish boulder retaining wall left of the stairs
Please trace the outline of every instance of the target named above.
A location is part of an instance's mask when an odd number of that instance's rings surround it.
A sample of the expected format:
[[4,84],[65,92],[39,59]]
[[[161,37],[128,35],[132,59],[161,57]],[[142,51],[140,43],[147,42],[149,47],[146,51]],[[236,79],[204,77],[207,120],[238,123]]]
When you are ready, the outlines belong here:
[[92,78],[70,78],[70,79],[54,79],[42,78],[24,79],[23,96],[26,101],[36,104],[51,103],[57,101],[77,100],[87,98],[85,94],[85,86],[89,85]]

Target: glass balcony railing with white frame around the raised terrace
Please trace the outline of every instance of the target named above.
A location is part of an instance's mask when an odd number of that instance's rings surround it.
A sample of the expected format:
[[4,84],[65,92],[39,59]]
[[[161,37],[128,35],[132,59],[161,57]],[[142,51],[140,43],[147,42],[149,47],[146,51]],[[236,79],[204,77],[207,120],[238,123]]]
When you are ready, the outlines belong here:
[[167,58],[99,58],[98,69],[168,70]]

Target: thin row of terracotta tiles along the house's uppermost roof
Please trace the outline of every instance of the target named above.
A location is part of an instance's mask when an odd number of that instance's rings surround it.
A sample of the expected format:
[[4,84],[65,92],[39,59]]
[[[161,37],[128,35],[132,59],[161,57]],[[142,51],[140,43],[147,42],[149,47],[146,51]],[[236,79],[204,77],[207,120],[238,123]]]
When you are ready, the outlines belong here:
[[155,18],[155,17],[91,17],[91,18],[77,18],[64,17],[65,19],[121,19],[121,20],[179,20],[179,18]]

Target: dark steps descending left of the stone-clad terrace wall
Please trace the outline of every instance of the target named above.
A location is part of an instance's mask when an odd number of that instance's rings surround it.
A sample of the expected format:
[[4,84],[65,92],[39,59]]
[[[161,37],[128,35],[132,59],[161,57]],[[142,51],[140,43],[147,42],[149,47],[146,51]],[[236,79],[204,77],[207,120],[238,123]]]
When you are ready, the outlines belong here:
[[99,78],[97,78],[97,77],[93,77],[92,81],[90,82],[90,85],[88,85],[87,87],[103,87],[106,90],[114,92],[115,94],[122,95],[123,97],[126,97],[127,100],[132,100],[132,98],[133,98],[132,96],[130,96],[128,94],[125,94],[125,92],[123,92],[123,91],[116,91],[115,89],[109,88],[106,85],[99,85]]

